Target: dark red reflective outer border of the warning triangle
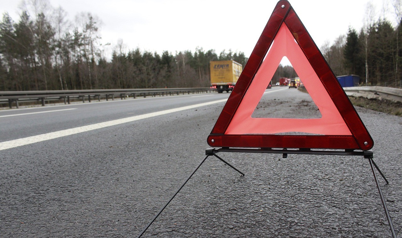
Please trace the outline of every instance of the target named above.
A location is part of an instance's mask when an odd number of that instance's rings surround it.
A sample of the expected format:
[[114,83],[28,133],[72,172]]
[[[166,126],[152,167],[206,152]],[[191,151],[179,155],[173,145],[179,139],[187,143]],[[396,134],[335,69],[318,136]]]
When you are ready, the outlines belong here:
[[[351,131],[347,135],[267,135],[243,134],[225,135],[230,121],[258,68],[263,62],[279,27],[284,23],[291,31],[296,42],[316,72],[322,85],[330,95],[343,120]],[[248,62],[230,94],[211,134],[207,138],[212,147],[254,147],[254,148],[310,148],[310,149],[361,149],[369,150],[374,141],[361,121],[345,91],[338,83],[334,73],[310,37],[303,23],[287,0],[281,0],[275,6],[271,17],[258,39]]]

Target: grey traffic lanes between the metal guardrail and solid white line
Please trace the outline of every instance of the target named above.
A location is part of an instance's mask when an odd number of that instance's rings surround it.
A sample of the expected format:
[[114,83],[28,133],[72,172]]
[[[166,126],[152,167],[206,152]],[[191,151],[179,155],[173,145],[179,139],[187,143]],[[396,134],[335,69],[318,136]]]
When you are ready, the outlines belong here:
[[[267,93],[275,93],[278,90],[281,89]],[[177,95],[0,111],[0,123],[4,125],[0,127],[0,142],[219,101],[227,99],[228,95]]]

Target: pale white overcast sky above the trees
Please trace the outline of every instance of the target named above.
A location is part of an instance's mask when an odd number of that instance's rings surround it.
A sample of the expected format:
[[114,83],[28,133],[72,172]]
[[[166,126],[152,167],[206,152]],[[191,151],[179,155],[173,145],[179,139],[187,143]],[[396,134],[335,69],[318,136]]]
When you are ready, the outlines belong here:
[[[391,0],[373,0],[377,18],[383,15],[395,22]],[[331,44],[351,25],[357,31],[363,26],[368,0],[290,0],[295,12],[321,48]],[[0,0],[0,12],[8,12],[19,20],[18,0]],[[102,43],[116,45],[123,39],[127,50],[158,52],[203,48],[242,51],[250,56],[263,31],[276,0],[50,0],[53,7],[61,6],[74,21],[79,12],[90,12],[103,21]],[[109,49],[110,51],[110,49]],[[107,51],[108,52],[108,51]],[[109,53],[107,53],[109,54]],[[107,56],[110,58],[110,56]]]

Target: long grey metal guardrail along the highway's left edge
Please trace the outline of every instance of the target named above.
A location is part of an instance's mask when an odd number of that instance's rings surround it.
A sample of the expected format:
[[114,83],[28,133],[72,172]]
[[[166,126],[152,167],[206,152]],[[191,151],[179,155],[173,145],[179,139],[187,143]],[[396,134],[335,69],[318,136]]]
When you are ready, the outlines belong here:
[[52,91],[0,91],[0,105],[7,104],[12,108],[13,104],[19,108],[19,102],[46,103],[54,101],[64,101],[64,104],[70,104],[72,100],[82,100],[84,103],[92,100],[100,101],[102,99],[114,100],[115,97],[126,99],[127,97],[147,97],[168,96],[190,94],[190,93],[208,93],[216,91],[210,88],[171,88],[171,89],[97,89],[97,90],[52,90]]

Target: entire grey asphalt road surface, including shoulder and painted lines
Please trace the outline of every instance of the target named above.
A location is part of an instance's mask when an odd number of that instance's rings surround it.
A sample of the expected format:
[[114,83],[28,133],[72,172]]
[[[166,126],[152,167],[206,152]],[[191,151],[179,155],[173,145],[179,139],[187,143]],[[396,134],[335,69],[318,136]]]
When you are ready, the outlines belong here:
[[[228,95],[0,111],[0,236],[137,236],[205,156]],[[257,108],[256,117],[320,116],[287,87],[267,89]],[[402,236],[402,118],[357,112]],[[209,157],[143,237],[391,236],[363,157],[219,155],[245,176]]]

